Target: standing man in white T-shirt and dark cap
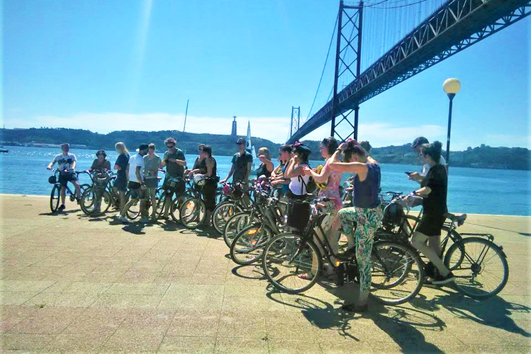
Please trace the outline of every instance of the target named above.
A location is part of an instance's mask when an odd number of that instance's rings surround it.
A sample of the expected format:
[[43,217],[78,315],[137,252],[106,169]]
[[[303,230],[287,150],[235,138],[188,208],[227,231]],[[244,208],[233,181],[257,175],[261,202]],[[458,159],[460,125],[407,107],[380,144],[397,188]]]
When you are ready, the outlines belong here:
[[147,198],[147,187],[144,183],[144,156],[147,155],[149,145],[140,144],[138,149],[138,154],[131,156],[129,158],[129,189],[131,190],[131,199],[126,203],[124,209],[122,210],[122,215],[120,215],[120,221],[122,223],[129,223],[127,220],[127,210],[131,205],[138,203],[140,199],[140,223],[149,223],[147,218],[147,208],[146,208],[146,198]]

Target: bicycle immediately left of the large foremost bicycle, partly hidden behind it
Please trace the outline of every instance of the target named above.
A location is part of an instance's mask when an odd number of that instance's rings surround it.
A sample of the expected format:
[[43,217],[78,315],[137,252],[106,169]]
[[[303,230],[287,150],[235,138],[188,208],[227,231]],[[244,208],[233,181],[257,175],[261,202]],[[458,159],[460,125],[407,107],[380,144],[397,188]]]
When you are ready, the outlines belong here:
[[256,199],[250,218],[258,221],[244,227],[230,245],[230,258],[239,265],[249,265],[259,261],[263,248],[276,234],[280,234],[286,226],[281,212],[281,201],[270,196],[271,189],[259,185],[254,193]]

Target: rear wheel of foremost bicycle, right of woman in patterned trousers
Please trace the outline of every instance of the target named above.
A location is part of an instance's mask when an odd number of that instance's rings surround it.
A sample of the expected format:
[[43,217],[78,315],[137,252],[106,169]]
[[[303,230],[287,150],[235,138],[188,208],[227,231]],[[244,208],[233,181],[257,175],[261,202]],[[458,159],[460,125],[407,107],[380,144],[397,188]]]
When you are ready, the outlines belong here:
[[375,242],[371,253],[371,296],[386,305],[398,305],[416,297],[424,283],[418,253],[393,241]]

